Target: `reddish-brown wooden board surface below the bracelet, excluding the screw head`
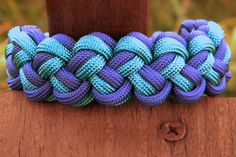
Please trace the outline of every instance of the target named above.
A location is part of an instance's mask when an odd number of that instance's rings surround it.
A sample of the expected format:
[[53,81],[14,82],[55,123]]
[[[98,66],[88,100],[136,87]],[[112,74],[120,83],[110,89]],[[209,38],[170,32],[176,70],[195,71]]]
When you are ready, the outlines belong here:
[[[22,92],[0,93],[2,157],[234,157],[236,98],[203,98],[147,108],[136,101],[116,108],[72,108],[34,103]],[[160,134],[164,121],[181,120],[187,135],[175,143]]]

